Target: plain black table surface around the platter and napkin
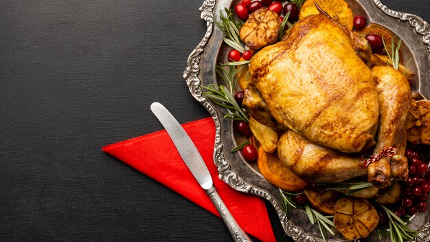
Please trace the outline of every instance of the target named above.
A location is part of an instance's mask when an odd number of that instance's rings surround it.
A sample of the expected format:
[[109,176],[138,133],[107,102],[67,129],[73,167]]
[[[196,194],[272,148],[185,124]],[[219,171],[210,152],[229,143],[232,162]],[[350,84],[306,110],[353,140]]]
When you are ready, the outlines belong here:
[[[0,241],[231,241],[221,219],[101,151],[160,130],[154,101],[181,123],[209,116],[182,78],[202,3],[0,1]],[[428,0],[383,3],[430,21]]]

